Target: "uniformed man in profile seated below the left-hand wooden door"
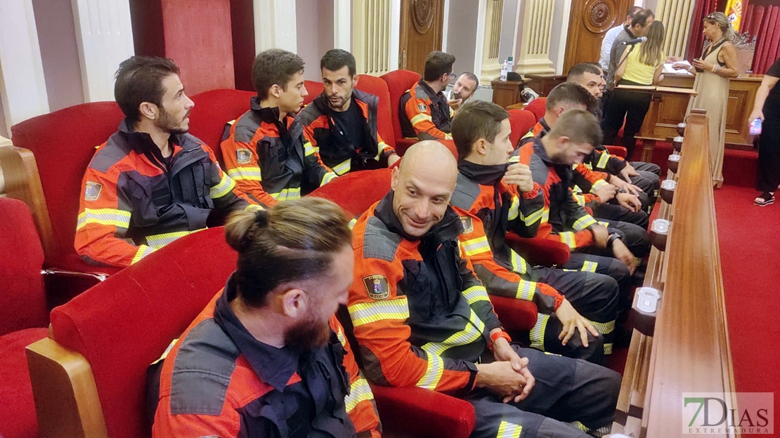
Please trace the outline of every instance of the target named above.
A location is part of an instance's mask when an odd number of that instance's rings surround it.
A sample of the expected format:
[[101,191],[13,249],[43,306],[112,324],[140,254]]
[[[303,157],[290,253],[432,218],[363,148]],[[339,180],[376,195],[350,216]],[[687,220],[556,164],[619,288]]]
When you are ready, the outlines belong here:
[[399,118],[404,138],[452,140],[452,108],[442,92],[455,75],[455,57],[443,51],[431,51],[425,59],[425,71],[414,87],[401,96]]

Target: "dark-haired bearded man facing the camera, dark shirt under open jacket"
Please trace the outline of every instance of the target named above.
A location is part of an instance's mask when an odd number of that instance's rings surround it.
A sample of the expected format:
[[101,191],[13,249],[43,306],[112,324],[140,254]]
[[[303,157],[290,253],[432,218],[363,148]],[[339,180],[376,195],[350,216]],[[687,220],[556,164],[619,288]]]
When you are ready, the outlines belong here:
[[354,88],[355,57],[335,48],[320,60],[323,90],[300,111],[303,132],[322,162],[338,175],[392,166],[395,150],[378,132],[379,98]]

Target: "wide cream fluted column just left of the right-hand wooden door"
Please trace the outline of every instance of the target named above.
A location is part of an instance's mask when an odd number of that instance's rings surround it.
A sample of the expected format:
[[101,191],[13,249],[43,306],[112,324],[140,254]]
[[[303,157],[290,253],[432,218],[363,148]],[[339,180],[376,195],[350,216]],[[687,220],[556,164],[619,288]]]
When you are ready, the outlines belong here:
[[[515,62],[521,74],[554,73],[550,60],[551,23],[555,12],[554,0],[525,0],[523,13],[523,37],[520,38],[520,55]],[[555,30],[556,32],[559,30]]]

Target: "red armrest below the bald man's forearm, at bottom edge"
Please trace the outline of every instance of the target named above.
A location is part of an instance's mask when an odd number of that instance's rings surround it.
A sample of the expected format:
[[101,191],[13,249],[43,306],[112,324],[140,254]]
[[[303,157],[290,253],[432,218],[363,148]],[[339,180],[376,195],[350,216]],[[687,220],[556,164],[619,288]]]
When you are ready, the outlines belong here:
[[474,408],[465,400],[424,388],[371,385],[386,430],[415,438],[467,438],[474,429]]

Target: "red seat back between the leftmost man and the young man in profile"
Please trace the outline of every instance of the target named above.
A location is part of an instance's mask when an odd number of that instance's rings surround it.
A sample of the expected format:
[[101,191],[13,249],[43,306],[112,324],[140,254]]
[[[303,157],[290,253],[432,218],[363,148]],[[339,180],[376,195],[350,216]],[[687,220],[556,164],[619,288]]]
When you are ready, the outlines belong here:
[[250,99],[256,94],[242,90],[211,90],[192,97],[195,108],[190,113],[190,134],[203,140],[222,162],[222,133],[225,123],[249,111]]

